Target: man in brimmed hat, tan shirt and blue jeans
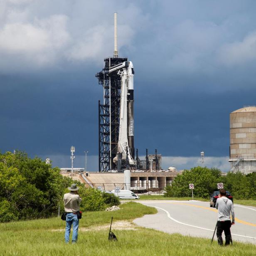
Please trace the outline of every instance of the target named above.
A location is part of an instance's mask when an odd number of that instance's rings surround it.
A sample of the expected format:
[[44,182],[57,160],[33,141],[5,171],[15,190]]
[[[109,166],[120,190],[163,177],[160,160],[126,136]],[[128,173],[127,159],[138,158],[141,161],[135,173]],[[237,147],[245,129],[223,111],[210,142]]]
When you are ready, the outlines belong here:
[[63,202],[64,209],[66,212],[66,232],[65,232],[65,242],[69,242],[69,234],[71,230],[71,226],[73,224],[73,235],[72,235],[72,243],[76,243],[78,236],[78,225],[79,219],[77,218],[77,212],[80,210],[79,204],[82,199],[79,197],[78,190],[79,187],[76,184],[72,184],[68,187],[69,193],[64,194]]

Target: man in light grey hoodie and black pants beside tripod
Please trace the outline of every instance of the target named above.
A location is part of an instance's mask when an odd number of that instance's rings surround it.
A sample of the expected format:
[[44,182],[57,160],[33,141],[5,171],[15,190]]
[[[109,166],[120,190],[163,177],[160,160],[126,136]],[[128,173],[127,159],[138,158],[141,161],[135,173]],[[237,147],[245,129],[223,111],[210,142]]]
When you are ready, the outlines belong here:
[[[225,234],[225,246],[230,244],[231,239],[231,232],[230,227],[231,225],[235,224],[235,214],[233,203],[230,199],[226,197],[226,190],[223,188],[219,190],[219,198],[215,204],[216,209],[218,209],[218,222],[217,222],[217,238],[218,244],[223,246],[222,240],[222,232],[224,231]],[[230,213],[232,217],[232,222],[230,220]]]

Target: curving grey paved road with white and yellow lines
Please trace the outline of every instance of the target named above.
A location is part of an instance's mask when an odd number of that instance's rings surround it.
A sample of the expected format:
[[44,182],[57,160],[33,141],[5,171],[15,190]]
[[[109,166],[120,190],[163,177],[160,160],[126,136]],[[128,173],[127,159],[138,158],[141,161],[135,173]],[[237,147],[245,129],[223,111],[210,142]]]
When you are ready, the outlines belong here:
[[[133,222],[138,226],[153,228],[167,233],[206,237],[212,239],[217,222],[217,209],[209,202],[144,200],[141,204],[153,206],[158,214],[145,215]],[[236,224],[231,226],[233,241],[256,244],[256,207],[234,204]],[[222,235],[224,238],[224,234]],[[216,234],[214,236],[216,240]]]

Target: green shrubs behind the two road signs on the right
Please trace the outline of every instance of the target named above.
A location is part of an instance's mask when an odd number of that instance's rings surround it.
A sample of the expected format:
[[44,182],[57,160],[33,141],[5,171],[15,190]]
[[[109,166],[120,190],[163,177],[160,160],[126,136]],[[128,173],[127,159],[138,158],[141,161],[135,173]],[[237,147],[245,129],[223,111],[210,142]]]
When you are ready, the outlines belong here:
[[185,170],[175,177],[172,185],[165,188],[164,196],[189,197],[192,194],[190,183],[194,184],[195,197],[209,198],[212,192],[218,190],[217,183],[223,183],[234,199],[256,198],[256,173],[245,175],[241,172],[228,172],[226,176],[222,176],[222,172],[216,168],[200,166]]

